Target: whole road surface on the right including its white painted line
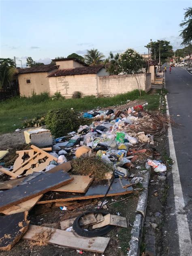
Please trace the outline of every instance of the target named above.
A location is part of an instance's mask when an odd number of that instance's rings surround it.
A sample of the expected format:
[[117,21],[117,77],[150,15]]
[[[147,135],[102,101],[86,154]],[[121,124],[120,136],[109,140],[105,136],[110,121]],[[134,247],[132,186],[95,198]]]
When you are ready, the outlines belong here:
[[170,128],[168,134],[175,162],[168,175],[162,255],[188,256],[192,255],[192,75],[179,67],[169,74],[167,68],[165,83],[169,114],[182,126]]

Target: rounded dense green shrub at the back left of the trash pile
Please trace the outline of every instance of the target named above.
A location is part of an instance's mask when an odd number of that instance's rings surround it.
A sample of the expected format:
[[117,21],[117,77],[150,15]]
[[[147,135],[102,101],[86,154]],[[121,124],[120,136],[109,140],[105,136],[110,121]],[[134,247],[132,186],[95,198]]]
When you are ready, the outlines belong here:
[[71,109],[52,109],[45,117],[47,129],[55,137],[65,136],[68,132],[72,132],[79,128],[79,125],[84,122],[83,118],[79,118],[77,113]]

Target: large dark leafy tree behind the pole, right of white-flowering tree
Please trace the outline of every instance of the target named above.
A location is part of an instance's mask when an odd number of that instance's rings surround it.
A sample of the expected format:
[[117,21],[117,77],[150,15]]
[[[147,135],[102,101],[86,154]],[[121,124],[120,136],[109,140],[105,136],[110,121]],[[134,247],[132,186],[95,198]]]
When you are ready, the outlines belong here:
[[173,57],[173,46],[170,45],[169,41],[158,40],[148,43],[145,47],[151,47],[151,59],[159,60],[159,47],[160,47],[160,58],[161,62],[166,62],[168,57]]

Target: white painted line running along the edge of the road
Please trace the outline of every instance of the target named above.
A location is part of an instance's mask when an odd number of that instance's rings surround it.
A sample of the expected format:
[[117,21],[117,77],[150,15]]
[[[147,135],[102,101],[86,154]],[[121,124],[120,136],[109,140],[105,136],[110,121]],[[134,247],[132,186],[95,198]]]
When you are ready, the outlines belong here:
[[[169,106],[168,106],[166,96],[165,96],[165,101],[166,101],[166,113],[167,115],[169,115]],[[175,154],[175,146],[173,142],[171,124],[169,124],[169,128],[168,128],[168,138],[169,138],[170,156],[174,161],[172,166],[172,174],[173,174],[173,189],[174,189],[174,196],[175,196],[175,215],[177,218],[177,230],[178,230],[179,248],[180,248],[180,254],[178,255],[188,256],[188,255],[191,255],[191,252],[192,252],[192,243],[191,243],[187,215],[183,210],[183,208],[185,207],[185,204],[184,204],[183,192],[181,188],[179,168],[177,165],[177,157]]]

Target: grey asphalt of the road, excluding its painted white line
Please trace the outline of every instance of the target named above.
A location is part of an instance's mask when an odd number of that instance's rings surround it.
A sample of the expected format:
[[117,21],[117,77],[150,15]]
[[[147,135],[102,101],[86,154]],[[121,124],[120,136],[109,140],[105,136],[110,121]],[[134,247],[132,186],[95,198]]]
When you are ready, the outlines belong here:
[[[173,67],[171,74],[169,74],[169,68],[167,68],[165,82],[166,89],[169,91],[169,94],[167,94],[169,113],[175,122],[182,125],[178,128],[172,127],[185,205],[179,214],[186,214],[190,237],[192,238],[192,75],[187,70],[179,67]],[[170,189],[164,219],[162,255],[179,256],[181,255],[179,250],[180,230],[175,214],[173,182],[170,173],[168,175]],[[186,252],[182,256],[192,255],[191,253]]]

